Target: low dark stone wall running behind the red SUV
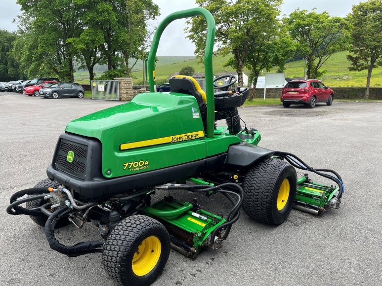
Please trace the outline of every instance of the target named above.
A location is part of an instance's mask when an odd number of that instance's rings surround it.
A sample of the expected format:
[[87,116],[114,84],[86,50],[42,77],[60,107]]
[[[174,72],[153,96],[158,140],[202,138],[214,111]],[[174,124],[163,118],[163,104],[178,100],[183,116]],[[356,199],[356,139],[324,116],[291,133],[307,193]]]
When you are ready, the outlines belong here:
[[[331,87],[334,90],[335,99],[363,99],[365,96],[366,87]],[[266,98],[280,98],[281,88],[267,88]],[[263,98],[263,88],[252,88],[250,95],[253,98]],[[369,99],[382,100],[382,87],[371,87]]]

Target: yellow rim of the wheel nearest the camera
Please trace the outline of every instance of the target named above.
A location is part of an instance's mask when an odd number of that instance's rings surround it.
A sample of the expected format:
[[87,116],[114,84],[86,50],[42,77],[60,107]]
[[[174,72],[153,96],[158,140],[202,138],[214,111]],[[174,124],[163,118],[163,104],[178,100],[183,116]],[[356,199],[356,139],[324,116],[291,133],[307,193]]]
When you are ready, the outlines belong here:
[[161,256],[161,242],[156,236],[146,238],[132,258],[132,271],[137,276],[144,276],[150,273],[157,265]]

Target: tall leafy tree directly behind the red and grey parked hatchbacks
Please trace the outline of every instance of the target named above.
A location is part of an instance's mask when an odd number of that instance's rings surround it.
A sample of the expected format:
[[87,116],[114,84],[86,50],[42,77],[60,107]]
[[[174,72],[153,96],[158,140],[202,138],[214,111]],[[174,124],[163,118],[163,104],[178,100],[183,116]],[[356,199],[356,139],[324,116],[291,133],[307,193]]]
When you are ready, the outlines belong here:
[[69,39],[81,34],[77,3],[72,0],[17,0],[17,3],[23,11],[21,23],[27,27],[25,32],[33,36],[27,42],[26,50],[32,51],[28,58],[40,67],[30,69],[30,74],[46,70],[47,66],[61,79],[74,81],[77,50]]

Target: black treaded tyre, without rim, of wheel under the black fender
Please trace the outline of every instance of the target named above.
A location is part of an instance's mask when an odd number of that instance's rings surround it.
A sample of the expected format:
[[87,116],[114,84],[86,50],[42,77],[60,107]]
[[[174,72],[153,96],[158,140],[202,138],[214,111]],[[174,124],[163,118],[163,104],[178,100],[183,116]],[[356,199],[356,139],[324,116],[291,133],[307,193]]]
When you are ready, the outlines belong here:
[[[284,179],[290,183],[289,198],[282,210],[277,209],[277,196]],[[253,168],[243,182],[243,210],[258,222],[279,225],[283,223],[292,210],[296,197],[296,170],[289,163],[268,158]]]

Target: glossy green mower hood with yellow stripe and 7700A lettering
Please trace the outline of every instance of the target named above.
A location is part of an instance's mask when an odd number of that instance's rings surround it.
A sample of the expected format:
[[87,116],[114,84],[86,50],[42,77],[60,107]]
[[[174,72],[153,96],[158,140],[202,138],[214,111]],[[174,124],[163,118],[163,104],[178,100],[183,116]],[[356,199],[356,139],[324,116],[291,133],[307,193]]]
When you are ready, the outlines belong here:
[[127,104],[73,120],[65,131],[102,143],[106,178],[200,160],[241,142],[229,134],[205,138],[196,99],[180,93],[141,93]]

